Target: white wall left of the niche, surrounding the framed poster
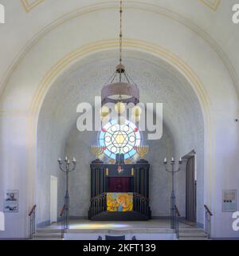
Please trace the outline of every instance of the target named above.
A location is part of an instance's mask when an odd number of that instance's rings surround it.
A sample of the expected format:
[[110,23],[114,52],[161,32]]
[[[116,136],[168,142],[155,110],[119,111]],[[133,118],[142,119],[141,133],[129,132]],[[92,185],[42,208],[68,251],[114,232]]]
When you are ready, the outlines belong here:
[[[19,191],[18,212],[5,213],[5,231],[0,230],[0,238],[21,238],[26,236],[27,226],[25,211],[28,191],[28,173],[25,171],[27,161],[26,117],[1,116],[0,118],[0,211],[4,211],[4,192]],[[18,227],[18,228],[16,228]]]

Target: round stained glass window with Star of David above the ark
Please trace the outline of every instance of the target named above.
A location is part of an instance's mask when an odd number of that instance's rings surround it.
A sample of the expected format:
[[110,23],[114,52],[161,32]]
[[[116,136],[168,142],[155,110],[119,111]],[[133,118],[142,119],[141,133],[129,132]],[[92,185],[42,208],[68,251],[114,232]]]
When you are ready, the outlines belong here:
[[139,128],[131,121],[118,124],[117,120],[111,120],[102,128],[99,140],[106,156],[116,159],[116,154],[124,154],[124,159],[129,159],[135,155],[141,137]]

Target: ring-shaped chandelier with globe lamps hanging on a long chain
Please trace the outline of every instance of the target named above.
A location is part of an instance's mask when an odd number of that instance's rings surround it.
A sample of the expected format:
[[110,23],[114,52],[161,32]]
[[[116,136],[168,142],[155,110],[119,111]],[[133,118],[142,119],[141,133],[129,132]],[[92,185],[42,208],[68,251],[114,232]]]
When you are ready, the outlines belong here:
[[[108,116],[108,109],[104,106],[107,103],[115,104],[115,111],[120,116],[125,111],[125,104],[138,104],[139,103],[139,88],[132,81],[125,71],[125,67],[122,64],[122,14],[123,14],[123,2],[120,1],[120,32],[119,32],[119,65],[116,66],[115,73],[112,74],[110,82],[107,85],[104,85],[101,90],[101,116],[105,118]],[[139,110],[139,106],[137,106]],[[141,110],[141,109],[140,109]],[[135,108],[135,120],[139,120],[140,110],[137,112]],[[140,113],[139,113],[140,112]]]

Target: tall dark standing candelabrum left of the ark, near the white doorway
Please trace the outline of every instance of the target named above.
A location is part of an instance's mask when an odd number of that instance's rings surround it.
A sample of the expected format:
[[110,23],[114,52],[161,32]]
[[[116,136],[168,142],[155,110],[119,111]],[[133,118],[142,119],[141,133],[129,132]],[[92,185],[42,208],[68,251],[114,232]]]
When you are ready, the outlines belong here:
[[76,159],[74,157],[72,161],[70,161],[69,158],[66,156],[64,161],[59,158],[58,163],[60,170],[65,172],[66,175],[64,228],[69,229],[69,172],[72,172],[76,169]]

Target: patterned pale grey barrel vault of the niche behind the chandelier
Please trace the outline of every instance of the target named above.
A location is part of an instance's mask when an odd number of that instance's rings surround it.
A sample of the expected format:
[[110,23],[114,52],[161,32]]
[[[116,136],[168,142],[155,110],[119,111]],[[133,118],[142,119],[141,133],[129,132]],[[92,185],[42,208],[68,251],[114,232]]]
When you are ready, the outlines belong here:
[[[163,122],[174,140],[183,143],[188,138],[188,152],[195,140],[203,141],[203,117],[198,98],[184,77],[165,61],[137,51],[124,52],[123,63],[127,73],[139,86],[140,101],[163,103]],[[41,107],[38,131],[48,125],[47,131],[61,128],[61,141],[67,140],[72,127],[76,127],[81,102],[94,106],[94,97],[111,77],[117,64],[116,51],[91,54],[61,74],[49,89]],[[48,120],[51,120],[50,124]],[[58,132],[59,133],[59,132]],[[185,152],[186,153],[186,152]]]

